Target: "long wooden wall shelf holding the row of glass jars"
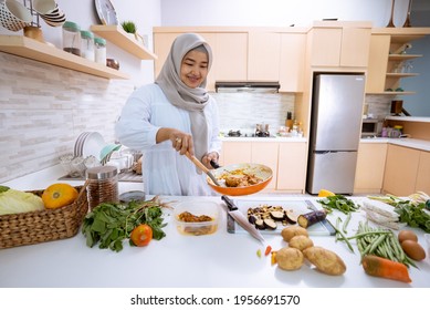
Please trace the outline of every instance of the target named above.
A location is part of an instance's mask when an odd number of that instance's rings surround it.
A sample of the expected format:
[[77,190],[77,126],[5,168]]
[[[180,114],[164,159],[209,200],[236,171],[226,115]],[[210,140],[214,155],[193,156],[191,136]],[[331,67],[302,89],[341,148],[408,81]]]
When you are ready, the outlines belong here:
[[105,79],[129,79],[117,70],[22,35],[0,35],[0,51]]

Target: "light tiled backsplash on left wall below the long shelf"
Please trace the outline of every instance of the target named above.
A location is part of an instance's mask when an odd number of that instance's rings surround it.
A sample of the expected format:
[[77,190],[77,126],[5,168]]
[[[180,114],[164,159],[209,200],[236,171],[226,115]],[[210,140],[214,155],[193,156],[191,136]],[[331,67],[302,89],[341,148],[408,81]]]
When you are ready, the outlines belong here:
[[114,124],[133,92],[106,80],[0,53],[0,184],[59,163],[82,132],[114,141]]

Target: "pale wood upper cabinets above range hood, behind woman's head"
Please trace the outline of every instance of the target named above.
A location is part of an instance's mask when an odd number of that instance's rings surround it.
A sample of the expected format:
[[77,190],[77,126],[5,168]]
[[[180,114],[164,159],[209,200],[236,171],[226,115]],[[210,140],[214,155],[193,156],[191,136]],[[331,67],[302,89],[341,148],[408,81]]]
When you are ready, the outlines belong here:
[[307,29],[301,28],[155,28],[157,76],[175,38],[202,35],[212,48],[207,87],[216,81],[279,81],[281,92],[302,92]]

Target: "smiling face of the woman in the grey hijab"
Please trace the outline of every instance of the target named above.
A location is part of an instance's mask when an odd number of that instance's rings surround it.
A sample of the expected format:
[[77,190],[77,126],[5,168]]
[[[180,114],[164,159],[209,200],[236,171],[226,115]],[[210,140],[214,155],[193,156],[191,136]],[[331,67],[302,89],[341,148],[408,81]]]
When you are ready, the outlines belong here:
[[200,86],[208,76],[208,55],[201,51],[189,51],[180,64],[180,80],[191,89]]

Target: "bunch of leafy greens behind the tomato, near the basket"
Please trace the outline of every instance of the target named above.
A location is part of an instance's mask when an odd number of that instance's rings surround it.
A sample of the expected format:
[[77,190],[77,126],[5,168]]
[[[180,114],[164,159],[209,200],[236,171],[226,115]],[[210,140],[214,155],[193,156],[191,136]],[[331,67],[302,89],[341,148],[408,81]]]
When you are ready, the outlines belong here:
[[[99,242],[101,249],[109,248],[114,251],[123,249],[123,240],[129,239],[132,230],[147,224],[153,228],[153,238],[160,240],[166,236],[161,207],[157,196],[147,202],[130,202],[128,204],[101,204],[84,218],[82,232],[86,237],[86,245],[94,247]],[[133,246],[133,242],[129,240]]]

